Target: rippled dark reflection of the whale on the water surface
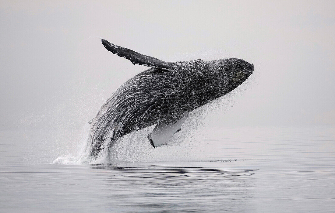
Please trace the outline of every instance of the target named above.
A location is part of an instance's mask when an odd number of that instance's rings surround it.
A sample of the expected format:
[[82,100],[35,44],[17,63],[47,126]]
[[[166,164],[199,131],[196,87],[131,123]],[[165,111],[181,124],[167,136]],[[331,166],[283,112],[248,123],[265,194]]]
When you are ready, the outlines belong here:
[[[209,166],[209,165],[207,165]],[[223,211],[252,208],[252,170],[149,165],[117,167],[92,165],[111,193],[111,208],[127,211]]]

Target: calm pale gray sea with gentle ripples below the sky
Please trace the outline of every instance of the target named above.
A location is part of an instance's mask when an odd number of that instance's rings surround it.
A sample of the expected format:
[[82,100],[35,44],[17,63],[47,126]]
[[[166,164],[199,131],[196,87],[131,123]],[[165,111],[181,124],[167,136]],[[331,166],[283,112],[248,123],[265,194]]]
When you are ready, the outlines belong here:
[[78,131],[1,131],[0,212],[334,212],[334,130],[194,130],[156,149],[137,136],[104,165],[51,164],[74,163]]

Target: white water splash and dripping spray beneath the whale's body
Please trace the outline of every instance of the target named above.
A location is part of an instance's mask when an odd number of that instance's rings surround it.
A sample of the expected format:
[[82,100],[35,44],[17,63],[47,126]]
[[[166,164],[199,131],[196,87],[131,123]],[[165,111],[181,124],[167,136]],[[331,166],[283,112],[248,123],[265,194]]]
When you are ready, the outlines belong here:
[[[198,111],[198,110],[197,110]],[[203,139],[194,132],[199,132],[199,113],[190,113],[190,117],[182,125],[182,131],[175,133],[166,146],[153,148],[146,135],[154,125],[129,133],[115,141],[110,149],[104,149],[96,158],[91,156],[91,143],[88,140],[90,124],[82,131],[78,154],[70,154],[55,159],[52,164],[115,164],[121,162],[190,162],[199,161]],[[201,114],[201,113],[200,113]],[[107,146],[109,141],[105,141]],[[205,157],[205,156],[204,156]]]

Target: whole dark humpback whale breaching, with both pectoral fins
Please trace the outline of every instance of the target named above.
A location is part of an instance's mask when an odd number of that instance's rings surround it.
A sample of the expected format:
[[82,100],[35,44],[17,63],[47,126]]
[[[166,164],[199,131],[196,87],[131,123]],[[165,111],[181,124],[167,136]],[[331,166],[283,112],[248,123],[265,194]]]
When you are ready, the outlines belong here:
[[102,39],[104,47],[133,64],[150,67],[122,84],[93,118],[91,155],[112,147],[123,135],[156,124],[148,134],[153,147],[165,145],[188,113],[241,85],[254,65],[242,59],[164,62]]

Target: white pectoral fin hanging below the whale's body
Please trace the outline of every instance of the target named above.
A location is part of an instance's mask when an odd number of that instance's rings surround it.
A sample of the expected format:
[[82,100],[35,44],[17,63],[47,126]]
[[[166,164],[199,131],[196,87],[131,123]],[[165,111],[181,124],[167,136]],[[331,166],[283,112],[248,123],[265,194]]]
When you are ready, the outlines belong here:
[[184,113],[183,117],[177,122],[172,124],[165,124],[164,122],[158,123],[150,134],[148,134],[148,139],[153,147],[158,147],[162,145],[167,145],[167,141],[170,140],[173,134],[181,130],[181,126],[188,117],[188,112]]

